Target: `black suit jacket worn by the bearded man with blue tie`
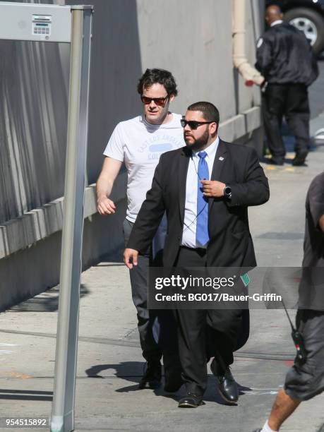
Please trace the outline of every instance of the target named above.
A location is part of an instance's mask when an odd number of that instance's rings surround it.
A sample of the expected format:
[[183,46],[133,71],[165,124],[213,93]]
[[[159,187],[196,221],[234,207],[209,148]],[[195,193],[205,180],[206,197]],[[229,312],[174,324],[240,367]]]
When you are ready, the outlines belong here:
[[[167,236],[163,263],[172,267],[181,246],[186,202],[186,176],[191,157],[189,148],[161,155],[127,247],[145,251],[160,220],[167,212]],[[256,257],[248,227],[248,206],[269,199],[265,177],[253,148],[220,140],[212,168],[211,180],[232,187],[232,199],[209,198],[207,265],[212,267],[254,267]]]

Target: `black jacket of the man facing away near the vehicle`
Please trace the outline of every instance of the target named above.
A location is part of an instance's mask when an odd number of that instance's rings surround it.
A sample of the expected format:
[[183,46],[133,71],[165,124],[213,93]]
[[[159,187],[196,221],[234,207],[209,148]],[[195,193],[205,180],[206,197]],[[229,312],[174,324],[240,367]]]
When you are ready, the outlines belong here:
[[303,32],[288,23],[272,25],[257,43],[256,68],[268,83],[310,85],[318,77],[313,50]]

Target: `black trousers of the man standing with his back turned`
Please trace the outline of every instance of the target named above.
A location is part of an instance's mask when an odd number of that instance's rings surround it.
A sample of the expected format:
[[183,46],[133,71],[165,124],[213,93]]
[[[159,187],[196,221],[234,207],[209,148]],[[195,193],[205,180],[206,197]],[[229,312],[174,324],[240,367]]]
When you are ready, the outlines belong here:
[[274,160],[283,160],[286,150],[280,133],[282,116],[295,137],[296,155],[309,149],[308,92],[304,84],[268,84],[263,93],[263,123]]

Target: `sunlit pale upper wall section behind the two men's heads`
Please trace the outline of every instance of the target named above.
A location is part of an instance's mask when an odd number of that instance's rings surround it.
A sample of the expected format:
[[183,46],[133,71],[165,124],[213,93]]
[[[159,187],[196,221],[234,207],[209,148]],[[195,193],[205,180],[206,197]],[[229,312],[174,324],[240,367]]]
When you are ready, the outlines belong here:
[[[246,88],[232,66],[231,1],[138,0],[137,4],[142,65],[155,64],[174,73],[179,84],[176,112],[208,100],[220,108],[225,121],[260,103],[258,89]],[[251,2],[246,5],[246,48],[253,59]]]

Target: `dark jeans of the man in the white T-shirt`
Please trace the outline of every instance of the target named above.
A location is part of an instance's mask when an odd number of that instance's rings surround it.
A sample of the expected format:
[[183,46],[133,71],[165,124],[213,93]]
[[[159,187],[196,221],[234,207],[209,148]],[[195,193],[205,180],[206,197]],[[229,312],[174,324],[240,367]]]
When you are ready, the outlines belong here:
[[[131,235],[133,223],[125,219],[123,228],[126,246],[129,236]],[[138,256],[138,265],[133,267],[132,270],[129,270],[129,275],[131,277],[133,304],[137,311],[138,332],[140,333],[140,346],[142,347],[143,357],[146,361],[160,361],[162,352],[157,342],[155,342],[152,332],[155,316],[150,316],[147,308],[149,265],[150,251],[147,251],[145,255]]]

